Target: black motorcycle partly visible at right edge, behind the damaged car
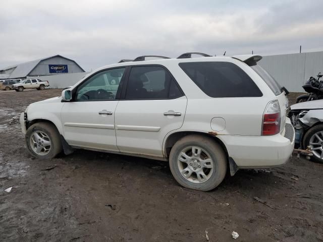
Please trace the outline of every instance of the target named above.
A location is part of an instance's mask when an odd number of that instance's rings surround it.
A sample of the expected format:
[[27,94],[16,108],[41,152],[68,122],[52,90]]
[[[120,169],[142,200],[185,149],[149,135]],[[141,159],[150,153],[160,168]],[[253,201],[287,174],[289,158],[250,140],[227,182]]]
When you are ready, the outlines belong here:
[[323,77],[323,75],[318,73],[317,79],[310,77],[306,81],[305,85],[302,87],[308,94],[299,95],[296,98],[296,103],[323,99],[323,81],[319,81],[321,77]]

